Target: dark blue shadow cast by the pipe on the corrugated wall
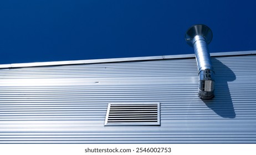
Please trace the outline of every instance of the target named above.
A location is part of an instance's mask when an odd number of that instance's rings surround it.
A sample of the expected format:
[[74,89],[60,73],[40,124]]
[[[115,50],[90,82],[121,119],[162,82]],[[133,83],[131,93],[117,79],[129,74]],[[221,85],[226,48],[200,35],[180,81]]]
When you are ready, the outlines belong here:
[[203,100],[203,102],[219,116],[235,118],[233,101],[228,87],[228,81],[234,81],[235,74],[216,58],[212,58],[212,64],[215,71],[215,97],[212,100]]

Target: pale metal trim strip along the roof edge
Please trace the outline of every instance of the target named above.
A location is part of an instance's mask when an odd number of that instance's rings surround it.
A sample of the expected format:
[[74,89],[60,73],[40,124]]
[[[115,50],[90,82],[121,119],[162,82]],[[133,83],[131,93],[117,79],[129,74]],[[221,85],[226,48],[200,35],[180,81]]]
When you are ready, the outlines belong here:
[[[251,55],[251,54],[256,54],[256,50],[230,51],[230,52],[210,53],[210,54],[213,57],[217,57],[217,56],[235,56],[235,55]],[[194,56],[194,54],[180,54],[180,55],[163,55],[163,56],[142,56],[142,57],[132,57],[132,58],[110,58],[110,59],[71,60],[71,61],[49,61],[49,62],[40,62],[40,63],[18,63],[18,64],[3,64],[3,65],[0,65],[0,69],[25,68],[25,67],[35,67],[35,66],[116,63],[116,62],[124,62],[124,61],[183,59],[183,58],[195,58],[195,56]]]

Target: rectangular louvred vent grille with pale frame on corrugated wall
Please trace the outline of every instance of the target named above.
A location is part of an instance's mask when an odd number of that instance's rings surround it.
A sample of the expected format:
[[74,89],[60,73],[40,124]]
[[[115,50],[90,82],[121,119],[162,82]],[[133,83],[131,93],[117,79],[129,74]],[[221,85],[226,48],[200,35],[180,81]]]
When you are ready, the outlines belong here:
[[160,125],[160,103],[110,103],[105,126]]

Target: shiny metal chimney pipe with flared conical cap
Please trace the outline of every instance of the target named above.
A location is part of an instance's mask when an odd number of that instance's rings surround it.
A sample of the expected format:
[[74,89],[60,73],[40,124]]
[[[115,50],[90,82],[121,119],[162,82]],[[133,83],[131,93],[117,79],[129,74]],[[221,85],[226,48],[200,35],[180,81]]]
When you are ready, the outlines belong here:
[[201,99],[214,97],[215,73],[207,45],[212,41],[212,30],[206,25],[193,25],[185,36],[188,45],[193,46],[199,75],[198,96]]

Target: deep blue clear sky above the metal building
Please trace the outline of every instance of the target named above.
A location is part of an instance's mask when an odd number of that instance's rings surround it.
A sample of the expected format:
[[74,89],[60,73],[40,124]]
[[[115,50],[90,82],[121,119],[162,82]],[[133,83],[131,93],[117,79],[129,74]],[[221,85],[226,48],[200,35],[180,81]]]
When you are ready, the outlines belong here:
[[209,50],[256,50],[256,1],[0,2],[0,64],[192,54],[193,24]]

